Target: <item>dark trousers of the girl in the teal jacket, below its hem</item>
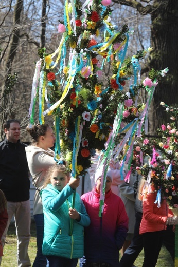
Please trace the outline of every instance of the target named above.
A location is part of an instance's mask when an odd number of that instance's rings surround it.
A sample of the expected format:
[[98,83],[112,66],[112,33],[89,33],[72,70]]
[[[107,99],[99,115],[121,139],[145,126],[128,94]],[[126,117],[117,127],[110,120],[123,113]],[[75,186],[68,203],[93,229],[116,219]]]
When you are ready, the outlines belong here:
[[49,267],[76,267],[78,259],[67,259],[58,256],[46,256]]

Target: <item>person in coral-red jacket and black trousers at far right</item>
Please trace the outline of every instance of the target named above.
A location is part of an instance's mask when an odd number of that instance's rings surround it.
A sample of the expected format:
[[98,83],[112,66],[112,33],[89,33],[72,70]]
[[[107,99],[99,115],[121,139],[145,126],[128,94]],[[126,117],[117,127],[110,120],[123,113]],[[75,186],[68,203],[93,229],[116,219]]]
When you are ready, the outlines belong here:
[[142,193],[143,217],[140,224],[140,234],[143,235],[144,242],[143,267],[156,265],[166,225],[178,223],[178,217],[173,216],[164,197],[161,198],[159,206],[159,202],[157,202],[159,193],[153,185],[147,186]]

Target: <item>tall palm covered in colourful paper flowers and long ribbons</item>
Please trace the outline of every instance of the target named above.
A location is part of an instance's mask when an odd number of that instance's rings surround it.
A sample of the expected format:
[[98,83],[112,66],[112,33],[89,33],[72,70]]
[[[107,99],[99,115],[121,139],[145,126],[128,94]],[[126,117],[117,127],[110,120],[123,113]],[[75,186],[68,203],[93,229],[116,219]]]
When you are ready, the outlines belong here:
[[[141,83],[139,61],[150,49],[126,58],[132,32],[127,25],[112,24],[110,4],[111,0],[65,1],[57,50],[39,50],[29,109],[31,124],[37,99],[40,123],[45,115],[54,119],[56,159],[66,159],[74,178],[85,174],[96,149],[105,151],[100,211],[108,163],[129,140],[121,162],[131,165],[134,138],[147,127],[148,108],[162,74],[151,70]],[[145,89],[147,103],[140,103],[139,92]]]

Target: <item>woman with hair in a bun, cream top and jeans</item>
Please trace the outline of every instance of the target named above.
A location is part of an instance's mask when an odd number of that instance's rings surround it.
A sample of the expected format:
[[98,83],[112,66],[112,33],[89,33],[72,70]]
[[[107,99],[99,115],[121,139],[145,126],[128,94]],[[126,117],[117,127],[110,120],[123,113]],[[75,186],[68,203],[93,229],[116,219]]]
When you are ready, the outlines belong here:
[[40,191],[44,185],[44,177],[48,168],[56,163],[55,152],[50,149],[54,146],[55,136],[48,124],[27,126],[33,142],[26,147],[26,155],[32,183],[36,188],[33,202],[33,217],[37,230],[37,255],[33,267],[46,267],[46,257],[42,254],[44,215]]

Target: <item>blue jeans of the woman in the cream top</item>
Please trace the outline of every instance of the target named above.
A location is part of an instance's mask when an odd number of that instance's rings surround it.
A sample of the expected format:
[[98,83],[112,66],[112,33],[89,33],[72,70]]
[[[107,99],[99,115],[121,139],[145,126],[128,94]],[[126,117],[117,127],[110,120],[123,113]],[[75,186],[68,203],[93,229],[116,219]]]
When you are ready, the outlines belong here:
[[46,267],[47,260],[46,257],[42,254],[42,244],[43,244],[43,234],[44,234],[44,215],[35,214],[34,221],[36,224],[37,231],[37,255],[33,262],[33,267]]

